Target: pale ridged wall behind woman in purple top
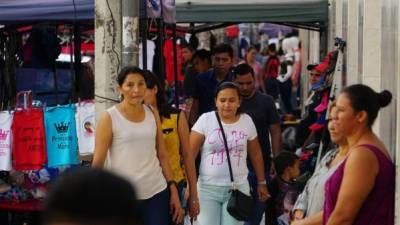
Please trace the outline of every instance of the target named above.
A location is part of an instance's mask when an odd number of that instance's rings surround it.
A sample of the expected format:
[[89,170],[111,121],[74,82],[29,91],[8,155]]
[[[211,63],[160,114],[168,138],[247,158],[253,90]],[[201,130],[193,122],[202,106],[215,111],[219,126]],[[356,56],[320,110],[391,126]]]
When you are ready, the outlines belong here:
[[[387,146],[400,182],[400,18],[398,0],[331,0],[329,38],[347,40],[343,83],[363,83],[375,91],[392,92],[392,103],[381,110],[373,130]],[[331,42],[329,42],[331,43]],[[330,45],[332,47],[332,45]],[[396,187],[396,224],[400,225],[400,185]]]

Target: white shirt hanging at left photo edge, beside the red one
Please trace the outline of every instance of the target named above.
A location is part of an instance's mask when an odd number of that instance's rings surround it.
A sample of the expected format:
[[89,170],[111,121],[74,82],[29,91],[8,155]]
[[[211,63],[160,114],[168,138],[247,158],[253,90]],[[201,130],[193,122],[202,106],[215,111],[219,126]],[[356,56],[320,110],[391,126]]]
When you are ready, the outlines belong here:
[[0,112],[0,170],[11,170],[11,124],[13,114]]

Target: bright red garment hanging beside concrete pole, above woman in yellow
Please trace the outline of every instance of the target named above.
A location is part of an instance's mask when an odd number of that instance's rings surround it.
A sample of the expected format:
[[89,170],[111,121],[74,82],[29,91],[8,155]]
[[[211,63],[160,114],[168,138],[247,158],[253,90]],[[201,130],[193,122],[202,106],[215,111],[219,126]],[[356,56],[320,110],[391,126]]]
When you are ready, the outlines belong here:
[[[183,80],[182,75],[182,49],[180,45],[176,45],[177,54],[177,70],[178,70],[178,81]],[[164,43],[164,57],[165,57],[165,77],[168,84],[172,84],[175,81],[174,75],[174,42],[171,39],[165,40]]]

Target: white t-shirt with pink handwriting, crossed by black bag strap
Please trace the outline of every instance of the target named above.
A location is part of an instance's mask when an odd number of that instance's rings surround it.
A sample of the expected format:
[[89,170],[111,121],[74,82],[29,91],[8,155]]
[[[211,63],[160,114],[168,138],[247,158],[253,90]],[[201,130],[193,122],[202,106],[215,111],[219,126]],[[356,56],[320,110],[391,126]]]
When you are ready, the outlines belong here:
[[[222,121],[221,121],[222,122]],[[238,121],[225,124],[226,139],[232,164],[235,185],[247,183],[247,141],[257,137],[256,127],[249,115],[242,113]],[[215,112],[204,113],[192,127],[192,131],[204,135],[201,147],[199,181],[206,185],[229,186],[229,166],[224,147],[224,139]]]

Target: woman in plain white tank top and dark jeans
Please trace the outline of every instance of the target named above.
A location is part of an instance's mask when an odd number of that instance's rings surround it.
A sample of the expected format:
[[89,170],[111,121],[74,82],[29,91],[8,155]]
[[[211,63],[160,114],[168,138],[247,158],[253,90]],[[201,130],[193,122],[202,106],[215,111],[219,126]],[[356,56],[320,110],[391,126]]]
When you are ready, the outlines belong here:
[[143,105],[145,79],[145,73],[137,67],[125,67],[119,73],[118,90],[123,100],[99,119],[92,165],[105,167],[131,182],[137,197],[143,200],[145,225],[168,225],[169,212],[175,222],[183,215],[159,115]]

